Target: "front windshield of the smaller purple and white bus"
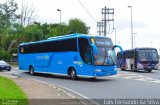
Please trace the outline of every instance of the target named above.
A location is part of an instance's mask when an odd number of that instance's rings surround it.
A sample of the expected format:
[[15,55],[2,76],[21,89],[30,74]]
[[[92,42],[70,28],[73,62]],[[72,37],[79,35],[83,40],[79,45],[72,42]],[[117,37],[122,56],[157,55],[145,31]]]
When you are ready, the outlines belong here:
[[138,50],[140,61],[158,61],[158,53],[155,49]]

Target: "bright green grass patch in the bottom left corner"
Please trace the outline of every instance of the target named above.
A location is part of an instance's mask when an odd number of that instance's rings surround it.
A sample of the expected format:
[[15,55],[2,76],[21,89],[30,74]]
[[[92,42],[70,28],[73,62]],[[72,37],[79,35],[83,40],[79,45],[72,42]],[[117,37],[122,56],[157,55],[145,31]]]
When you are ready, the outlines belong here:
[[12,80],[0,76],[0,105],[28,105],[27,96]]

